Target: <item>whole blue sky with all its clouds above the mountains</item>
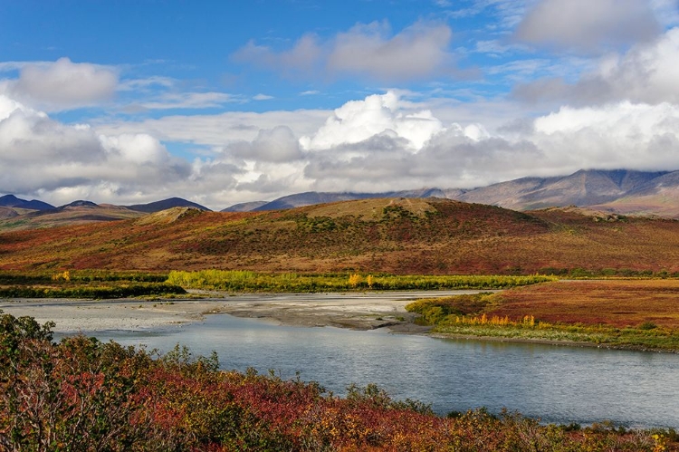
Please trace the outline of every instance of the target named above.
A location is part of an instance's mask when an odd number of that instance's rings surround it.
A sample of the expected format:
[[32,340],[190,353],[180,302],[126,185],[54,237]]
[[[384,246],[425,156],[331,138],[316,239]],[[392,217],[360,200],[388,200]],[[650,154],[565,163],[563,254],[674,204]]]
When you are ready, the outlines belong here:
[[0,0],[0,195],[679,169],[679,0]]

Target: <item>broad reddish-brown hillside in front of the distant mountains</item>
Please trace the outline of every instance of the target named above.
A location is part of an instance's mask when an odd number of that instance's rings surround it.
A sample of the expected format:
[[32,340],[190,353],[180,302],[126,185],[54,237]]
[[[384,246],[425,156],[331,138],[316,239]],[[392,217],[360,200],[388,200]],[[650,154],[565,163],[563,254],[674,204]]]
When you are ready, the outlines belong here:
[[0,268],[531,274],[679,271],[679,222],[447,199],[366,199],[262,213],[175,208],[0,234]]

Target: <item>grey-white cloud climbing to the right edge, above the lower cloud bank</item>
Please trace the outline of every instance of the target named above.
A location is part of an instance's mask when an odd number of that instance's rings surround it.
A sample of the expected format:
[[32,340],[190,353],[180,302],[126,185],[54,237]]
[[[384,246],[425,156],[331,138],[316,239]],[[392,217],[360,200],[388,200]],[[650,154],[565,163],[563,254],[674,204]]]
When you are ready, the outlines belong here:
[[679,103],[679,28],[651,43],[638,44],[622,55],[609,54],[596,71],[577,82],[540,79],[517,86],[514,96],[524,101],[568,101],[576,105],[622,100]]

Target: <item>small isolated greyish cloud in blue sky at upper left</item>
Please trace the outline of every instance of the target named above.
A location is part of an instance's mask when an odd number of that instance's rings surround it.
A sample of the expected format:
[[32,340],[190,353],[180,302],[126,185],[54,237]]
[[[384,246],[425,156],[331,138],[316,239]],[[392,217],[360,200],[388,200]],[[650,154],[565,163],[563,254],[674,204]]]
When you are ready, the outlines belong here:
[[118,87],[118,72],[107,66],[72,63],[25,63],[19,78],[5,81],[5,94],[48,111],[70,110],[110,100]]

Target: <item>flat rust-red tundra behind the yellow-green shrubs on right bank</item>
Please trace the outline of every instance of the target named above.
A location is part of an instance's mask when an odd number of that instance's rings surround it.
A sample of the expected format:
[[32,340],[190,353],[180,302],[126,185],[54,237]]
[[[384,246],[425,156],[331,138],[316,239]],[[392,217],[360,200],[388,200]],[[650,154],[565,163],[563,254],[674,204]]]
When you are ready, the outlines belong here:
[[679,281],[560,281],[512,289],[497,295],[500,305],[488,315],[542,322],[613,325],[653,322],[679,329]]

